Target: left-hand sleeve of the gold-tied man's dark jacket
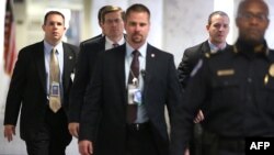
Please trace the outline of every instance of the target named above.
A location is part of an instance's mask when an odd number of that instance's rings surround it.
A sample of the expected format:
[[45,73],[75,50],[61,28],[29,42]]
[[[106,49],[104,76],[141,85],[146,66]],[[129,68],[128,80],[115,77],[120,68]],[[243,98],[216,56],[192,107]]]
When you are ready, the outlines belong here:
[[30,63],[27,53],[22,49],[19,53],[18,62],[15,64],[13,75],[10,82],[10,88],[7,97],[4,124],[16,125],[20,112],[21,102],[25,89],[26,68]]

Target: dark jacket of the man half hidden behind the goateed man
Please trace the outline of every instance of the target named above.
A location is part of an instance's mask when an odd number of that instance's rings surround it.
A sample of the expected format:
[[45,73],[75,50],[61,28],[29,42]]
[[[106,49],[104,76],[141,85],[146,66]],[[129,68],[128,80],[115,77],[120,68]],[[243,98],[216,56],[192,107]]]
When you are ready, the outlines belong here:
[[80,44],[76,76],[69,98],[69,122],[80,122],[83,97],[92,77],[98,54],[105,51],[105,36],[90,38]]

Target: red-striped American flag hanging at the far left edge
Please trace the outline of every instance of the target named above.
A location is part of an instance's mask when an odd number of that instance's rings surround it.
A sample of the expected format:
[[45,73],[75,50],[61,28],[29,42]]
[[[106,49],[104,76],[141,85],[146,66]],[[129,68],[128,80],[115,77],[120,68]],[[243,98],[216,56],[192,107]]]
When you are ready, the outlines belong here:
[[13,0],[7,0],[4,19],[4,70],[12,75],[14,64],[18,58],[15,49],[15,23],[12,10]]

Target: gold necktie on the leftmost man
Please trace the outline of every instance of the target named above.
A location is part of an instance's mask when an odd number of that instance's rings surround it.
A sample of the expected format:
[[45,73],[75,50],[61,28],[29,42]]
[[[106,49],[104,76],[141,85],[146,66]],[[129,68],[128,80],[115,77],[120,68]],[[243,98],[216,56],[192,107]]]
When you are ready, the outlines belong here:
[[59,64],[56,56],[56,48],[53,48],[50,53],[50,62],[49,62],[49,108],[57,112],[61,108],[60,101],[60,70]]

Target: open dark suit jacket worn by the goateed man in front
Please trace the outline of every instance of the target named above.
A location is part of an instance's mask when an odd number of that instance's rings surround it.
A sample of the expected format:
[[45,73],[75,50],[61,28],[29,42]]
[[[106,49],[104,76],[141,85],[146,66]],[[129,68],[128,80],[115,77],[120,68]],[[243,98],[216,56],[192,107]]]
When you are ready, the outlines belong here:
[[[95,155],[125,154],[127,106],[125,52],[124,44],[101,53],[92,82],[87,90],[79,140],[95,143]],[[144,102],[161,155],[169,154],[170,143],[164,106],[168,107],[173,126],[175,123],[179,124],[174,117],[178,114],[175,110],[180,101],[181,90],[173,56],[148,45]]]

